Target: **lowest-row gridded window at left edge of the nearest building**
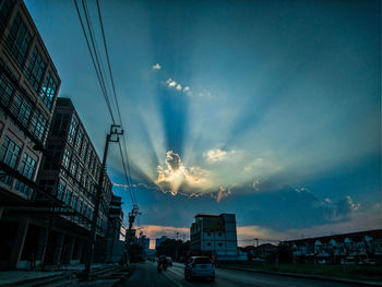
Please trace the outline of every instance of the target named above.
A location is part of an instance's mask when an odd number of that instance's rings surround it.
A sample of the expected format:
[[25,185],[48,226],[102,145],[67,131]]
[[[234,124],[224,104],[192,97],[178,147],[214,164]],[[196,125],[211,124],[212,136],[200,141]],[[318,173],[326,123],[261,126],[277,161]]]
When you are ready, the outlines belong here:
[[[4,142],[0,151],[0,160],[12,168],[16,168],[20,159],[21,147],[5,135]],[[0,170],[0,181],[12,186],[13,178]]]

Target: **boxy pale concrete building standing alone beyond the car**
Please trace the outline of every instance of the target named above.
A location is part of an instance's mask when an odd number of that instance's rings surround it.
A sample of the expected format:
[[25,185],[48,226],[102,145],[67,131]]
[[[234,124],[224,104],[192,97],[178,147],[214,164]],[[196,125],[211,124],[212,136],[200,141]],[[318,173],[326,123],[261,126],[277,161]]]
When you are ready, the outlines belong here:
[[216,254],[218,260],[237,260],[235,214],[198,214],[191,225],[191,250],[201,254]]

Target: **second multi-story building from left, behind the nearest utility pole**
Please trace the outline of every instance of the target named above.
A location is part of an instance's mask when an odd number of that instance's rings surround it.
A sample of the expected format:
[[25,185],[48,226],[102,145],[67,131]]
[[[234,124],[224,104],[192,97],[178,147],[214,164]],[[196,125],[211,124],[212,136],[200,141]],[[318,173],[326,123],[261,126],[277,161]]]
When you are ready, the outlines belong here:
[[[52,246],[61,251],[52,251],[45,262],[55,264],[57,258],[61,258],[63,263],[84,261],[102,163],[69,98],[57,99],[47,148],[50,153],[44,157],[38,182],[80,216],[73,216],[73,212],[67,214],[62,212],[64,208],[58,208],[60,216],[55,218],[53,224],[57,235],[51,241]],[[97,218],[100,246],[106,236],[112,196],[111,181],[106,172],[104,176],[103,198]],[[55,252],[59,252],[60,255],[55,256]]]

